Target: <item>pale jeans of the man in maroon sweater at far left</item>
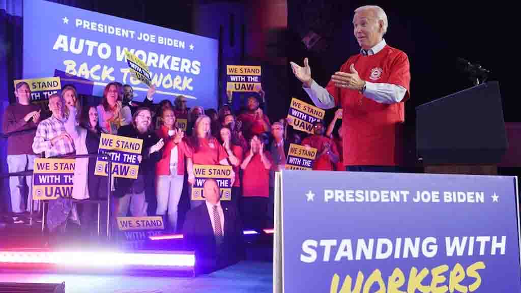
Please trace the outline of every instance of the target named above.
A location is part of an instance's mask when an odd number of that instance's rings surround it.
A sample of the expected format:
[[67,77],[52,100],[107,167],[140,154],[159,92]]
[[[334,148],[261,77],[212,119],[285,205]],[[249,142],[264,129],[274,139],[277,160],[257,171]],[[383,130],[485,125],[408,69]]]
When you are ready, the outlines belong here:
[[[9,173],[22,172],[32,170],[34,167],[34,158],[36,155],[22,154],[22,155],[7,155],[7,164],[9,166]],[[23,189],[27,184],[28,200],[27,209],[25,208],[26,200],[23,197]],[[12,176],[9,177],[9,190],[11,193],[11,206],[14,213],[22,213],[24,210],[38,211],[40,201],[32,202],[32,176]]]

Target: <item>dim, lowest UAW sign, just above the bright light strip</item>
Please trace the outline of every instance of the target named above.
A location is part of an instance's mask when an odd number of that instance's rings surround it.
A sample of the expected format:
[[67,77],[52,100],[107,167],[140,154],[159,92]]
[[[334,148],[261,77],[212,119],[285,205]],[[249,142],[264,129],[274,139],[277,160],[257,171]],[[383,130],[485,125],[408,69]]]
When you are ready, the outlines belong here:
[[142,249],[151,236],[163,234],[163,217],[117,217],[119,237],[122,245],[131,249]]

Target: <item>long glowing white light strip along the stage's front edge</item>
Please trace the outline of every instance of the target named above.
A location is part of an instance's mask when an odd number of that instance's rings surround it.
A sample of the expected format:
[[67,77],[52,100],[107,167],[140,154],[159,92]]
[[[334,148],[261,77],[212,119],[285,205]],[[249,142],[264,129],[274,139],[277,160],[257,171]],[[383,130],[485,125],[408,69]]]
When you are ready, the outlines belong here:
[[28,252],[0,251],[0,263],[57,264],[80,267],[186,266],[195,264],[194,254],[122,252]]

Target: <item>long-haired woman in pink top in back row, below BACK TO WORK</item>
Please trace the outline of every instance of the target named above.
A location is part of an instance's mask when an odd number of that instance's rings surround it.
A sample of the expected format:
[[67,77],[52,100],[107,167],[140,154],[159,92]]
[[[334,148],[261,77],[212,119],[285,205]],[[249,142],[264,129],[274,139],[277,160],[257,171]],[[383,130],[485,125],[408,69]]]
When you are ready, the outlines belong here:
[[121,126],[130,124],[123,117],[119,101],[121,89],[118,82],[110,82],[103,91],[101,104],[96,107],[101,129],[109,135],[117,135]]

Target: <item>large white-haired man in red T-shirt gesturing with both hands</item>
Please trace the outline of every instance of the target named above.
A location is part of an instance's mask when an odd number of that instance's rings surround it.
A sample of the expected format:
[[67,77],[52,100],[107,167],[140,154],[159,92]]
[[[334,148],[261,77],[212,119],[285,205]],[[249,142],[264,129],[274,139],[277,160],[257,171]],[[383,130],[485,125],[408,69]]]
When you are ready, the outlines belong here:
[[352,171],[395,172],[402,162],[404,103],[410,97],[407,55],[386,44],[387,16],[378,6],[355,10],[354,34],[361,46],[335,72],[326,88],[304,67],[291,62],[293,74],[315,105],[343,109],[344,165]]

